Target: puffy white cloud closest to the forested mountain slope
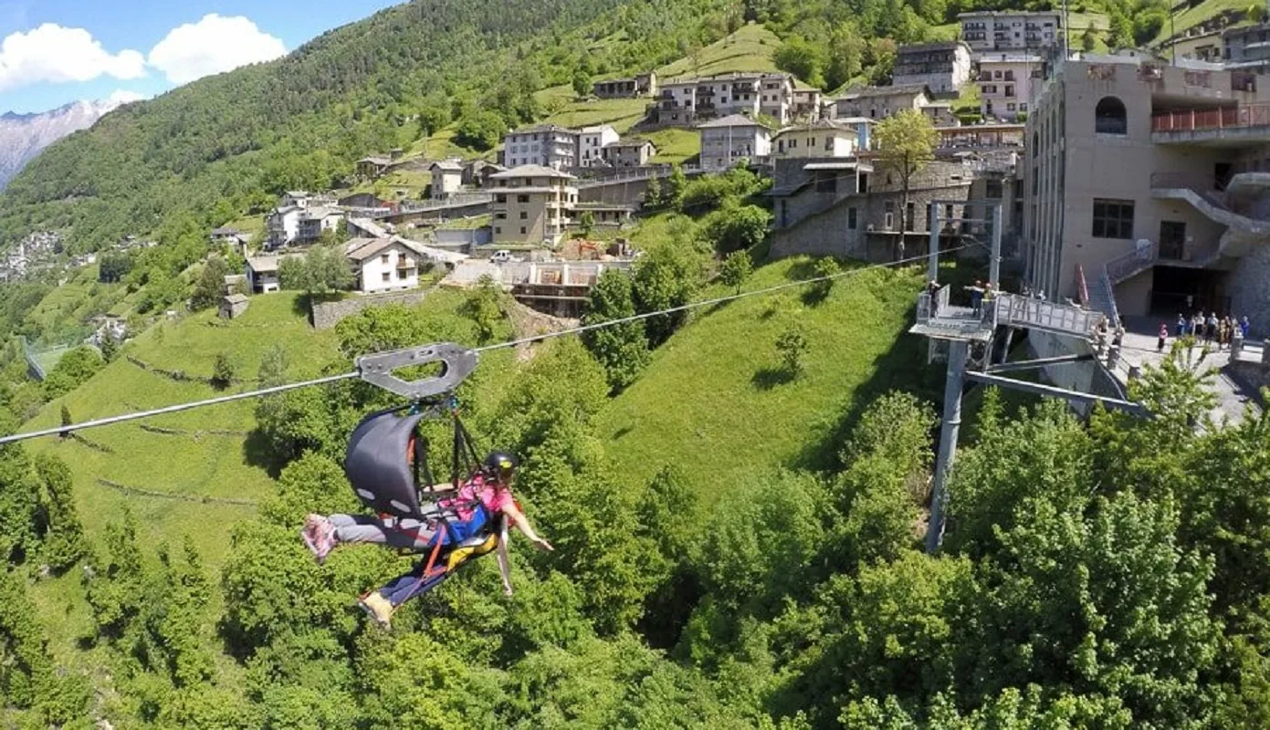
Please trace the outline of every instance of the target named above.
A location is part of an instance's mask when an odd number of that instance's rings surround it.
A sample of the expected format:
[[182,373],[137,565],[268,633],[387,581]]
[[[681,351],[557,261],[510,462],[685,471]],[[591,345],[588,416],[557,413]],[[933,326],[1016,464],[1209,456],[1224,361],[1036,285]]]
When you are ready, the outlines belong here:
[[248,63],[271,61],[286,52],[282,41],[262,32],[251,20],[212,13],[198,23],[173,28],[150,51],[150,65],[173,84],[187,84]]

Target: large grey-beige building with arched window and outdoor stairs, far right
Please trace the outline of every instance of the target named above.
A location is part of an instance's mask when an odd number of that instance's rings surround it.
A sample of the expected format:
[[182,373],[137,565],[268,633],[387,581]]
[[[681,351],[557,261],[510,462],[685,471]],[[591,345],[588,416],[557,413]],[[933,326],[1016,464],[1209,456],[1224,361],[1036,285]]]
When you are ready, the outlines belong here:
[[1270,83],[1132,56],[1063,63],[1027,118],[1026,279],[1120,315],[1270,329]]

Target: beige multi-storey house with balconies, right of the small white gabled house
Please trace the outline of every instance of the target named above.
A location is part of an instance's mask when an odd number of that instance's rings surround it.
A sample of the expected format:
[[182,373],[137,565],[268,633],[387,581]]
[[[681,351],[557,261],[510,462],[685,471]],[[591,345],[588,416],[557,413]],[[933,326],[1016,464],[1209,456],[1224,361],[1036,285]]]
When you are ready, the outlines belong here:
[[578,202],[573,180],[573,175],[544,165],[521,165],[490,175],[494,242],[559,242]]

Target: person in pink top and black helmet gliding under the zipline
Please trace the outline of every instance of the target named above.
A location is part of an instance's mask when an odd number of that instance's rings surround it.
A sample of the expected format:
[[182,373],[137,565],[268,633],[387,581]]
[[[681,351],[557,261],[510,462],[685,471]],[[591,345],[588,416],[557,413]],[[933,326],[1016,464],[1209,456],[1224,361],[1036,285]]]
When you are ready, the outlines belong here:
[[[424,513],[437,513],[437,518],[419,521],[400,517],[372,517],[367,514],[331,514],[323,517],[310,514],[305,519],[301,537],[312,551],[319,565],[326,560],[331,550],[345,543],[371,542],[390,547],[405,548],[413,552],[428,552],[437,541],[450,545],[462,543],[483,532],[493,532],[498,541],[498,567],[503,576],[503,592],[512,594],[512,583],[507,562],[507,527],[519,528],[540,550],[554,550],[551,543],[535,532],[533,526],[516,504],[512,496],[512,479],[517,460],[505,452],[493,452],[485,457],[484,468],[456,490],[452,484],[433,485],[428,494],[453,493],[436,501],[436,509]],[[448,532],[441,522],[446,514]],[[456,550],[456,545],[450,545]],[[483,554],[485,551],[478,552]],[[413,570],[389,581],[380,590],[361,598],[364,608],[380,623],[387,623],[392,612],[414,595],[429,587],[432,576]]]

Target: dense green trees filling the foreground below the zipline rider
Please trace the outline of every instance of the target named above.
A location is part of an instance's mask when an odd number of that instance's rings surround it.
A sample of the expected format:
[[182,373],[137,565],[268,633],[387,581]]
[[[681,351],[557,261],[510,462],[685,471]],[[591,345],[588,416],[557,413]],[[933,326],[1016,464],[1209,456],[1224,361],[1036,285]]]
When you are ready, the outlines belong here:
[[[700,281],[641,265],[597,289],[597,321],[657,292],[691,296]],[[476,342],[490,316],[503,336],[498,296],[471,297],[464,317],[366,310],[338,325],[340,349]],[[986,394],[950,485],[945,548],[930,556],[936,418],[912,395],[866,404],[832,467],[754,472],[712,504],[674,463],[641,485],[615,474],[593,418],[639,373],[602,353],[674,326],[591,340],[598,359],[556,342],[493,401],[472,399],[493,377],[481,371],[460,388],[478,439],[523,457],[518,495],[556,550],[513,537],[513,597],[478,561],[391,631],[353,599],[403,559],[347,548],[318,566],[296,538],[306,513],[358,510],[340,458],[361,415],[391,401],[381,391],[339,383],[260,401],[277,491],[234,529],[218,575],[188,543],[142,542],[128,517],[88,543],[65,466],[0,448],[0,517],[22,526],[0,536],[9,716],[208,729],[1270,721],[1270,416],[1208,423],[1212,376],[1182,353],[1132,386],[1151,419],[1082,420],[1053,401],[1011,413]],[[444,441],[444,424],[429,428]],[[80,642],[109,660],[114,700],[91,711],[90,677],[47,658],[24,590],[71,570],[94,616]],[[224,609],[207,626],[199,607],[213,594]],[[246,680],[225,680],[218,651]]]

